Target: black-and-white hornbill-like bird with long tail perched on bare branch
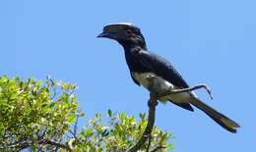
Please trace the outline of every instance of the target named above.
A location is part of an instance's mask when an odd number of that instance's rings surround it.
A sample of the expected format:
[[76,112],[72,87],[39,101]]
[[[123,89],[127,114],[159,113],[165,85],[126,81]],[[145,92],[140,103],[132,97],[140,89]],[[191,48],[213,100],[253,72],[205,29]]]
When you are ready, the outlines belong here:
[[[166,59],[148,50],[141,29],[130,23],[114,23],[104,25],[99,38],[116,40],[124,49],[124,55],[133,81],[150,92],[164,92],[168,89],[189,88],[188,83]],[[154,84],[151,82],[154,78]],[[194,91],[161,96],[160,102],[171,102],[185,110],[194,111],[194,107],[202,110],[221,127],[235,133],[237,123],[204,103]]]

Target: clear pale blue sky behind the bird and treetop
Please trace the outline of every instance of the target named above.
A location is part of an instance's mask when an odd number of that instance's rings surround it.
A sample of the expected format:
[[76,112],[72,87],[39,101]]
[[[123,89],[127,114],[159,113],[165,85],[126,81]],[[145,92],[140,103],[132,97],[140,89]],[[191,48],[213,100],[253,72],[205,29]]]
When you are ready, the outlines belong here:
[[199,96],[241,126],[232,134],[199,110],[159,105],[156,125],[173,132],[173,151],[255,151],[255,6],[253,0],[1,0],[0,75],[77,83],[87,118],[107,109],[138,116],[148,111],[148,92],[130,78],[120,45],[96,38],[103,25],[130,22],[190,85],[207,82],[214,100],[204,91]]

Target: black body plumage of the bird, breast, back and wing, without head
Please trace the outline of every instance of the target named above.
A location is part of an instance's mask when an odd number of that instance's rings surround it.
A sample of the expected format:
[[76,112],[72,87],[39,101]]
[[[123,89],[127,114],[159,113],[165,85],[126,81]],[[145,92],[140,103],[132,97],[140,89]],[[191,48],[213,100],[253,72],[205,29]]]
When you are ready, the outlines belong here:
[[[124,46],[124,48],[126,62],[131,72],[132,79],[136,84],[140,85],[140,82],[132,75],[133,73],[154,72],[156,75],[166,79],[179,88],[189,87],[182,76],[180,76],[174,67],[164,58],[140,47]],[[189,103],[175,103],[171,100],[169,101],[186,110],[194,111]]]

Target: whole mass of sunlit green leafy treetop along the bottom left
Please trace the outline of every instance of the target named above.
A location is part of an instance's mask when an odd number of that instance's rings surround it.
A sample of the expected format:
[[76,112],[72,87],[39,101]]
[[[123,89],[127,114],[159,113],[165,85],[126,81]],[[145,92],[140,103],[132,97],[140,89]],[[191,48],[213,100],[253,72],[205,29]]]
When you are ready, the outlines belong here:
[[[125,113],[100,114],[78,129],[77,86],[72,83],[0,77],[0,151],[124,151],[140,138],[147,116],[139,122]],[[103,123],[107,122],[107,123]],[[151,149],[172,149],[170,133],[154,127]],[[148,143],[142,147],[146,150]]]

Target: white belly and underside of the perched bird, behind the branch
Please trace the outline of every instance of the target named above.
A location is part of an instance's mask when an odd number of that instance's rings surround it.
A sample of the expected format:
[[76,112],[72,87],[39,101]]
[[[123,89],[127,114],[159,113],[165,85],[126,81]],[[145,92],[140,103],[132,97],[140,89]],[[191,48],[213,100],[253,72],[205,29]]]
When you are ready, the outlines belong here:
[[[133,76],[148,90],[153,90],[155,92],[166,92],[167,90],[170,90],[170,89],[178,89],[178,87],[174,86],[172,83],[161,78],[160,76],[156,76],[153,73],[143,73],[143,74],[134,73]],[[149,88],[150,86],[151,88]],[[189,103],[190,97],[191,97],[190,93],[184,92],[184,93],[163,96],[160,98],[160,101],[171,100],[177,103]]]

